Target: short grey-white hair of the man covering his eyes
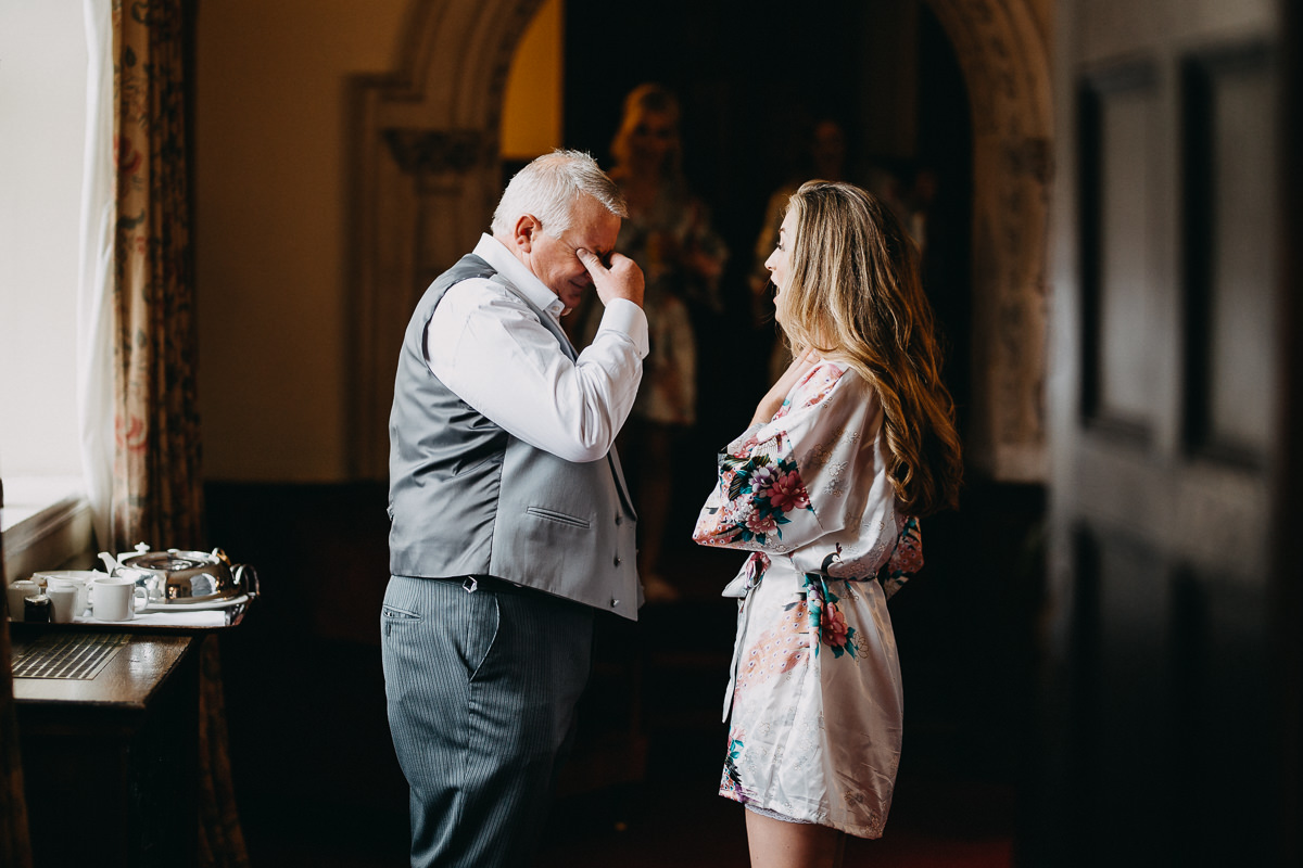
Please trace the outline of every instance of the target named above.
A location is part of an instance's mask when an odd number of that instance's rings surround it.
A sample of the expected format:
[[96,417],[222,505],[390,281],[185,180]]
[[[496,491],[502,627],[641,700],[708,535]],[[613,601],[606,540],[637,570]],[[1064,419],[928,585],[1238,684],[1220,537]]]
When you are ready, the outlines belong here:
[[517,172],[493,215],[495,236],[509,236],[516,220],[525,213],[543,224],[552,238],[571,226],[571,215],[580,197],[593,197],[618,217],[628,217],[624,194],[582,151],[552,151]]

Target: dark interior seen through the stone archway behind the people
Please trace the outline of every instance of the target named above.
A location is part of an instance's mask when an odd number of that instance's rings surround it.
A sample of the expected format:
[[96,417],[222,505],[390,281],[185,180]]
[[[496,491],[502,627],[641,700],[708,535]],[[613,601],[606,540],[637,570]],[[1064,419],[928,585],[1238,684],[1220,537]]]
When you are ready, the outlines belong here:
[[683,104],[684,170],[731,251],[722,286],[728,310],[710,324],[730,342],[728,358],[701,347],[706,440],[730,436],[767,387],[757,379],[721,390],[713,371],[736,370],[739,357],[744,364],[766,358],[773,331],[751,329],[745,277],[770,194],[808,177],[805,137],[818,118],[847,130],[852,178],[887,170],[904,190],[919,167],[939,176],[928,290],[951,347],[947,379],[963,420],[972,135],[963,75],[926,4],[667,0],[653,9],[567,0],[564,27],[567,147],[610,167],[624,96],[640,83],[661,82]]

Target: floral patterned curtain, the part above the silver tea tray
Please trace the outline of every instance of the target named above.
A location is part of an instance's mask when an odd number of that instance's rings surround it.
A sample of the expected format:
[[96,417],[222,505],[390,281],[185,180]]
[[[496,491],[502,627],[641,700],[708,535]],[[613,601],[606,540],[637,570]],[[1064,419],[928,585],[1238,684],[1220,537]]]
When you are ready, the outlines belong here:
[[115,550],[197,548],[203,521],[186,0],[113,0]]

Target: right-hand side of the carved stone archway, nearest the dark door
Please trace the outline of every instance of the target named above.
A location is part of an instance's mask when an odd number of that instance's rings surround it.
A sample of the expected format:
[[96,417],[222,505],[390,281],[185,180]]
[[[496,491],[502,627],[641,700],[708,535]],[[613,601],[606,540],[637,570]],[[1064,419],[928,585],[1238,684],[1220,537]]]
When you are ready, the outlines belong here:
[[968,463],[999,481],[1044,483],[1053,172],[1045,35],[1028,0],[925,1],[955,49],[973,125]]

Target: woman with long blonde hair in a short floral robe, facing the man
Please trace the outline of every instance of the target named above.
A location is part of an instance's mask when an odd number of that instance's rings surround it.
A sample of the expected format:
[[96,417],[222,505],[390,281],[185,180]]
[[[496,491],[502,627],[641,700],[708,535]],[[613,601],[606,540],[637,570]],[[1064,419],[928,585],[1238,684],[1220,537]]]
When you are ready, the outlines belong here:
[[719,458],[693,537],[751,550],[721,795],[752,865],[839,865],[882,834],[902,691],[886,600],[923,562],[919,517],[952,508],[954,405],[917,252],[877,198],[812,181],[765,263],[796,360]]

